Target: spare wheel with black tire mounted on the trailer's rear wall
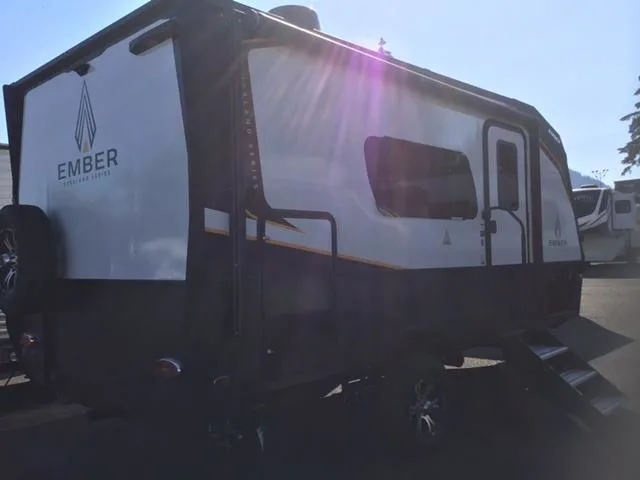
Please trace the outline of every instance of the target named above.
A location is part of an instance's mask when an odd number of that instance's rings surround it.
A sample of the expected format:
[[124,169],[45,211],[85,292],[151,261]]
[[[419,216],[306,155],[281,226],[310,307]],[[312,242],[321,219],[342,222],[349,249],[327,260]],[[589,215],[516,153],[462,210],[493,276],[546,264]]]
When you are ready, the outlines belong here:
[[40,311],[55,278],[53,230],[33,205],[0,209],[0,309],[7,316]]

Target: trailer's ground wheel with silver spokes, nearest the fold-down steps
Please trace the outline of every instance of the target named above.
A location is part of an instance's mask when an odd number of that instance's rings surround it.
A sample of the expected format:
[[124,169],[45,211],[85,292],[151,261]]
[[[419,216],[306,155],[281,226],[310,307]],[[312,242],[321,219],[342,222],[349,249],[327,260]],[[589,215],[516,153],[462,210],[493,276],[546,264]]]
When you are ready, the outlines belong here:
[[431,453],[447,426],[444,368],[400,372],[378,392],[378,413],[385,443],[401,455]]

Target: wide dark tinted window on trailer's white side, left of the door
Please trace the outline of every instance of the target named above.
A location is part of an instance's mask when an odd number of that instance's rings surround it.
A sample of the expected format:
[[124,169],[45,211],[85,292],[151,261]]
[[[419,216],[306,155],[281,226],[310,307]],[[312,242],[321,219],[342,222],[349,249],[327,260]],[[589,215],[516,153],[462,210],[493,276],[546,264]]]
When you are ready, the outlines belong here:
[[387,216],[472,219],[478,214],[469,160],[454,150],[390,137],[364,144],[369,183]]

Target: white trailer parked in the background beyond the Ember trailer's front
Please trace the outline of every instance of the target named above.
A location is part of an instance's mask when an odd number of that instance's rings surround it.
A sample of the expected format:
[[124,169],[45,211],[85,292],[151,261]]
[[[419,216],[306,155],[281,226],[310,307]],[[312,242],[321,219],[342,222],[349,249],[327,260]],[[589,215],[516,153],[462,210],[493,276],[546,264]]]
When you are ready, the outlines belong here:
[[634,192],[585,185],[573,203],[587,262],[635,262],[640,254],[640,209]]

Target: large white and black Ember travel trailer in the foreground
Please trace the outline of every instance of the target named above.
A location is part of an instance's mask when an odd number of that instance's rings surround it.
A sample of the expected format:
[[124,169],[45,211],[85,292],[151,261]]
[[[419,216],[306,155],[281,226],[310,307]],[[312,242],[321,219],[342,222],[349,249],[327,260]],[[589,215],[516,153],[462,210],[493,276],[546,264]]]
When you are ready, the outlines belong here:
[[367,385],[422,448],[466,349],[569,358],[541,332],[578,316],[582,251],[531,106],[223,0],[152,1],[4,100],[0,304],[96,413],[263,446],[263,412]]

